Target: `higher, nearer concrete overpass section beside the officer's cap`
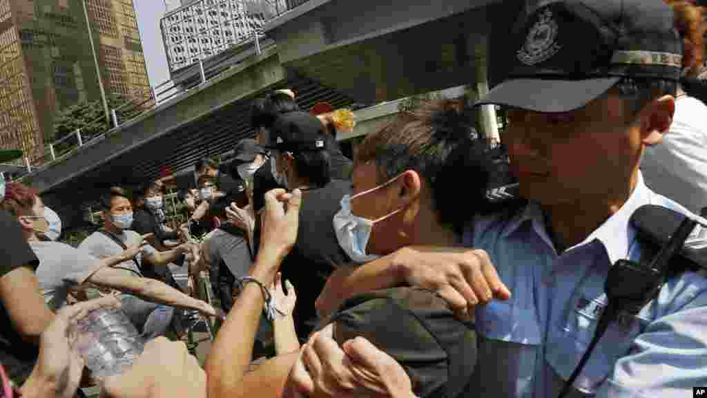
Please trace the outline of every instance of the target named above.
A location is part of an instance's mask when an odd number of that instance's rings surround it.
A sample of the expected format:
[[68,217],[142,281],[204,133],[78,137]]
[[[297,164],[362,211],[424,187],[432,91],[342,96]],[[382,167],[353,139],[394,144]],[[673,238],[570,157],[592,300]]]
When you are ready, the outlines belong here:
[[310,0],[264,30],[286,67],[357,101],[463,84],[483,93],[505,73],[499,52],[513,45],[515,19],[534,1]]

